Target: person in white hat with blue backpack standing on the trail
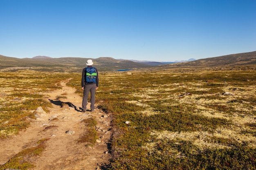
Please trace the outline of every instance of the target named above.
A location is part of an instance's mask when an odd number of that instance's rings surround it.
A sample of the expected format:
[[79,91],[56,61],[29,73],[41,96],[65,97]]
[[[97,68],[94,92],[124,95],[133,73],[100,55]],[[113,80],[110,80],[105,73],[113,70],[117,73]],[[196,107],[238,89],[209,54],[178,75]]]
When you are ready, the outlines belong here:
[[94,110],[95,104],[95,91],[99,87],[99,77],[98,70],[95,67],[92,67],[92,60],[87,60],[87,67],[83,68],[82,73],[82,89],[83,89],[83,103],[82,103],[82,112],[86,111],[86,105],[89,93],[91,93],[91,112]]

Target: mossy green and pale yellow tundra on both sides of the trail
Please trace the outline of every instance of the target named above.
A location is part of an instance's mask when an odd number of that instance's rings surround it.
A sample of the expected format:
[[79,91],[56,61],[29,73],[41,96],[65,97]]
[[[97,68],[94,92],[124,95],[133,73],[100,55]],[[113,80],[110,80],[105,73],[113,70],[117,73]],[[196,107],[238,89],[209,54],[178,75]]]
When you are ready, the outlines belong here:
[[[96,103],[114,115],[109,169],[256,167],[255,70],[166,69],[131,73],[99,74]],[[38,106],[51,107],[43,100],[43,93],[59,88],[58,82],[70,77],[73,79],[68,85],[82,94],[80,73],[3,72],[0,137],[28,127]],[[95,122],[85,124],[92,136],[85,134],[78,142],[92,145]]]

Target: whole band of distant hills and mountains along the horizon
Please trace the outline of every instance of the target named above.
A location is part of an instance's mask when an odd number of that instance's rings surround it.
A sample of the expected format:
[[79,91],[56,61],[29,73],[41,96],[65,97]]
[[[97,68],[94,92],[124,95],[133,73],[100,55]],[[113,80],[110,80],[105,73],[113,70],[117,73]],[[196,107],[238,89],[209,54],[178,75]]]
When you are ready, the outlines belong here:
[[[57,71],[57,72],[81,72],[86,66],[86,61],[92,58],[79,57],[61,57],[52,58],[47,56],[36,56],[33,58],[15,58],[0,55],[0,71],[17,71],[22,69],[31,69],[36,71]],[[200,60],[189,59],[187,61],[152,62],[137,60],[116,60],[111,57],[99,57],[92,59],[99,71],[117,71],[120,69],[140,69],[149,70],[159,69],[186,69],[186,68],[228,68],[256,66],[256,51],[249,53],[238,53],[211,57]]]

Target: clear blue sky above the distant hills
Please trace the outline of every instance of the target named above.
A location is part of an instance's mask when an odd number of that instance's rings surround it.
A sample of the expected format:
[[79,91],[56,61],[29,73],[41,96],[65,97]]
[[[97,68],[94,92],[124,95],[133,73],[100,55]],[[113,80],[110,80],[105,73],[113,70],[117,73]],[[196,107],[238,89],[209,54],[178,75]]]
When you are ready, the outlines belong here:
[[0,0],[0,55],[175,61],[256,51],[256,0]]

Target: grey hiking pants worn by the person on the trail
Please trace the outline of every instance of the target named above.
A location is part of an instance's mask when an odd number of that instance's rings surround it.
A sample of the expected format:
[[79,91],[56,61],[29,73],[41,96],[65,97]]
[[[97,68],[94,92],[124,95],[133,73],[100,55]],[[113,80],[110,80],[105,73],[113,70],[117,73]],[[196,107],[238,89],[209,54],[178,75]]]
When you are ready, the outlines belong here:
[[83,89],[83,103],[82,108],[83,110],[86,110],[86,105],[88,101],[89,92],[91,92],[91,110],[94,110],[94,104],[95,104],[95,91],[96,91],[96,84],[87,84],[84,86]]

